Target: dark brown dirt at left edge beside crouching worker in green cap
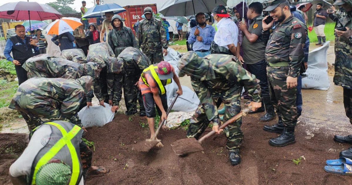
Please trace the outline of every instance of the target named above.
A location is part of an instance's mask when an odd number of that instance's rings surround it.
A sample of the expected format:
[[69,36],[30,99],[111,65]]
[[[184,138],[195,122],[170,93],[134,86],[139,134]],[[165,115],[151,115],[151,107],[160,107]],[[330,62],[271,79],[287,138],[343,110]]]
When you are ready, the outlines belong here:
[[12,185],[8,169],[28,144],[28,134],[0,134],[0,184]]

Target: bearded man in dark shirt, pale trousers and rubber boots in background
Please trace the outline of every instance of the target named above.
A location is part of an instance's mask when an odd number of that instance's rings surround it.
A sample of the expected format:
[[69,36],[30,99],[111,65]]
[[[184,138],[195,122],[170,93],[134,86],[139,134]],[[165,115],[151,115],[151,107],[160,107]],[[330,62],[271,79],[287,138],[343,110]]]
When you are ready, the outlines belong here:
[[[318,43],[315,45],[323,45],[326,41],[325,34],[324,34],[324,27],[325,27],[325,22],[326,18],[328,17],[328,14],[325,10],[323,10],[321,7],[323,5],[321,3],[318,3],[316,5],[316,11],[314,12],[314,31],[316,33],[316,37],[318,37]],[[321,40],[323,40],[321,42]]]

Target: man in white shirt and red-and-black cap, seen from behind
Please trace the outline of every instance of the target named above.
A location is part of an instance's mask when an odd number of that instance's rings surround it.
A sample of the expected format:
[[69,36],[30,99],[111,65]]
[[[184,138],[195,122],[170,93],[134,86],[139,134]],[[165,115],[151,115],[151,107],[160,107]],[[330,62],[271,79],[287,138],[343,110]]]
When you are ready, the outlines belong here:
[[[227,54],[236,56],[242,62],[243,59],[239,54],[238,27],[236,23],[231,20],[225,6],[219,5],[215,7],[212,11],[212,16],[218,22],[216,24],[218,30],[216,31],[214,37],[215,44],[219,46],[220,50],[224,48],[224,50],[229,50]],[[214,53],[214,51],[212,51],[212,53]],[[215,51],[215,53],[219,52]]]

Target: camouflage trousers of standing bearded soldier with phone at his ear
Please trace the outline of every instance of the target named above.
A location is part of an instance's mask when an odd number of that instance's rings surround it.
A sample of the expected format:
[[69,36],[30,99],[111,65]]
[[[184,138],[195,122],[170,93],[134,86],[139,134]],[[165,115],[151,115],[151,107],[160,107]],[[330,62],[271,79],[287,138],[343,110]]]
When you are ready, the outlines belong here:
[[270,99],[281,114],[285,127],[295,127],[297,123],[297,88],[287,88],[287,67],[267,67]]

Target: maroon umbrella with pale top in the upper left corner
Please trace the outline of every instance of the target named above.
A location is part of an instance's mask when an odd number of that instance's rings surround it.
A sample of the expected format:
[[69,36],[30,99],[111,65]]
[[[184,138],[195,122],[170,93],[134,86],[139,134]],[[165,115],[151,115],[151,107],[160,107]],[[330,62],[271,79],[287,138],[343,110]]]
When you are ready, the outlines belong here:
[[[53,7],[37,2],[8,2],[0,6],[0,18],[5,19],[47,20],[59,19],[61,16],[62,15]],[[29,23],[29,25],[31,25],[31,23]]]

